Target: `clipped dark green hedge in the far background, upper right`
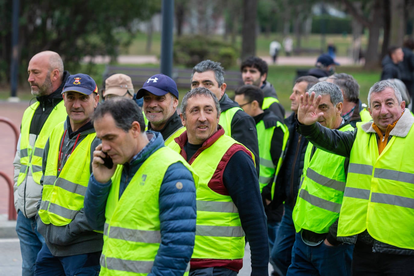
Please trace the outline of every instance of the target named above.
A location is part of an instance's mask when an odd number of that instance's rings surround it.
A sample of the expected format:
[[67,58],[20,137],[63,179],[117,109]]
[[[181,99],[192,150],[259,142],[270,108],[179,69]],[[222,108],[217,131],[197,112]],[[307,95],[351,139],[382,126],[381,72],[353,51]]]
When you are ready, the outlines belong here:
[[351,34],[351,21],[351,17],[314,16],[312,18],[312,33],[320,34],[325,29],[325,34]]

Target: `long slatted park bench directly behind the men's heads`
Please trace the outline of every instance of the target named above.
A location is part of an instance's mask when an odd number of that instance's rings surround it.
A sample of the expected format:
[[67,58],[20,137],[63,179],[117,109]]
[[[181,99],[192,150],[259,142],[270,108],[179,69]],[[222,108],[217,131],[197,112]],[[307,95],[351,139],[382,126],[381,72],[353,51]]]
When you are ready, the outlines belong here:
[[[140,87],[142,87],[142,84],[144,84],[144,82],[149,79],[149,77],[155,74],[159,74],[159,71],[159,68],[107,65],[105,72],[103,73],[103,79],[106,79],[112,74],[126,74],[131,77],[135,90],[138,90]],[[178,88],[190,89],[190,78],[192,72],[193,69],[173,69],[172,79],[176,82]],[[227,90],[234,91],[237,87],[243,85],[241,72],[225,71],[224,82],[227,84]]]

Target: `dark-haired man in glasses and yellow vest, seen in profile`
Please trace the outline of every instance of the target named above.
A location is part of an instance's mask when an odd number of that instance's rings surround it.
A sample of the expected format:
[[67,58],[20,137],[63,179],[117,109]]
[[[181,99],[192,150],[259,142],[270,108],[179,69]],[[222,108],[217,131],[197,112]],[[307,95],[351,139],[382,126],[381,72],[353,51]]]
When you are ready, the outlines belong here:
[[[289,132],[283,119],[274,115],[270,108],[262,109],[263,92],[254,85],[243,85],[235,91],[234,100],[243,110],[255,119],[258,131],[260,175],[259,185],[262,202],[267,216],[267,235],[272,250],[277,230],[282,220],[283,205],[273,206],[272,186],[282,164],[282,156]],[[276,268],[274,267],[276,270]]]

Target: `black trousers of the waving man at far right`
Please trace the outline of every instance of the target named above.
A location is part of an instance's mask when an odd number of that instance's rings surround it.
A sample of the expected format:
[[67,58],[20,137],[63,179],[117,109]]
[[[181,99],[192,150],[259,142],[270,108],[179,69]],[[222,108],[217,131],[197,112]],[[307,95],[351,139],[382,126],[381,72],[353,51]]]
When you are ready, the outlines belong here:
[[352,255],[353,276],[412,276],[414,255],[397,255],[373,252],[371,245],[357,241]]

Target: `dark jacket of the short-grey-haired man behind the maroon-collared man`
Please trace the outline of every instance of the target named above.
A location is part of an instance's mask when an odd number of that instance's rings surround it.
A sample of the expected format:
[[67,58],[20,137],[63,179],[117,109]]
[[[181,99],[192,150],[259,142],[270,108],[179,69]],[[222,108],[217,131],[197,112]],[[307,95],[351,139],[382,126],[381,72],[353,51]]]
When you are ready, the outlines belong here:
[[[227,94],[224,94],[219,102],[221,112],[238,106],[238,103],[232,101]],[[230,127],[231,138],[242,143],[255,155],[256,171],[259,175],[259,142],[255,120],[243,110],[238,110],[231,119]]]

